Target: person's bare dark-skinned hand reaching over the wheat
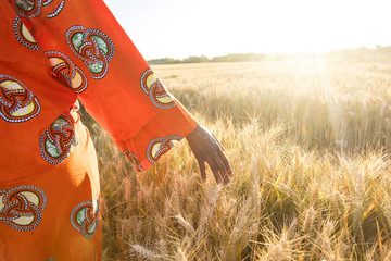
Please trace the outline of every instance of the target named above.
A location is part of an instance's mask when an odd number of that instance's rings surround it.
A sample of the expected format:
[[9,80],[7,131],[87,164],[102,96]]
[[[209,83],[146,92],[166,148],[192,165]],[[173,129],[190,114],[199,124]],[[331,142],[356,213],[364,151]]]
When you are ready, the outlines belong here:
[[202,181],[206,182],[206,162],[217,184],[229,184],[232,170],[223,152],[224,147],[216,137],[205,127],[197,125],[195,129],[186,139],[199,163]]

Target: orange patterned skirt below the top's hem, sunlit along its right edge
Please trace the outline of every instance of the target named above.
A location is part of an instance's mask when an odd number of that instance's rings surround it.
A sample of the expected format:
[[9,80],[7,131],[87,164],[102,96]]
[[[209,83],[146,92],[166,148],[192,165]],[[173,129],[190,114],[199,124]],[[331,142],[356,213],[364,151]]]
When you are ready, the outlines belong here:
[[[97,157],[87,129],[77,120],[75,133],[79,144],[64,163],[0,185],[0,260],[100,260]],[[84,214],[89,220],[83,220]],[[76,216],[81,217],[79,223],[73,221]]]

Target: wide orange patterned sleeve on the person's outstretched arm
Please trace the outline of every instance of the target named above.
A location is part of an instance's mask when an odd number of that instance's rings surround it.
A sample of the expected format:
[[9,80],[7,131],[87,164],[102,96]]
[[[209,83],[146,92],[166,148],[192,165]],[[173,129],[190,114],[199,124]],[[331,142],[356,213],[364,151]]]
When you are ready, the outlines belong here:
[[102,0],[9,1],[52,74],[138,170],[194,129],[197,121],[167,92]]

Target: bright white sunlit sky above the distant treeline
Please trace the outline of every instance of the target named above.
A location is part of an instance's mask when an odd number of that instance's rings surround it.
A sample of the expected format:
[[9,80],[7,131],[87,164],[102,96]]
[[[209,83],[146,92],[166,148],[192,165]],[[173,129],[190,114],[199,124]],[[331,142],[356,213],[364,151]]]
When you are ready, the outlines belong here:
[[104,0],[147,59],[391,46],[390,0]]

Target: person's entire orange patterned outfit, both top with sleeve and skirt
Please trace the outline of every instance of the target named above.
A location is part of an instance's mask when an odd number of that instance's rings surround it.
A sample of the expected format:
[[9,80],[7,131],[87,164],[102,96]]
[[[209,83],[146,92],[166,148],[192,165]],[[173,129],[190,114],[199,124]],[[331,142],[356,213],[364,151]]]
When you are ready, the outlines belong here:
[[0,1],[0,260],[99,260],[97,158],[77,99],[139,170],[197,122],[102,0]]

